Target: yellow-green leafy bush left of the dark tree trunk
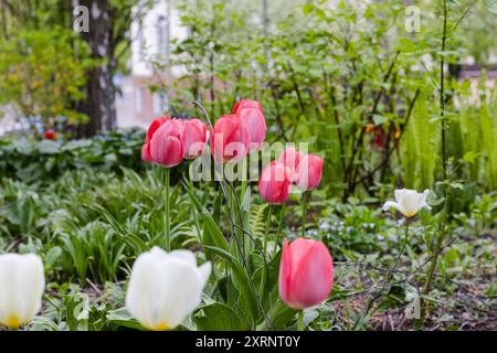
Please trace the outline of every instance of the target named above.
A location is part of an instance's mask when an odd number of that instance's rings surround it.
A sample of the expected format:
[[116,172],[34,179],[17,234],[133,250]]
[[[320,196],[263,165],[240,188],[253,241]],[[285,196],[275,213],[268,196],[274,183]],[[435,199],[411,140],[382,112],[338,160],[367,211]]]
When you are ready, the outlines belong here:
[[22,117],[85,119],[74,100],[84,97],[87,47],[73,32],[22,31],[0,41],[0,105],[15,104]]

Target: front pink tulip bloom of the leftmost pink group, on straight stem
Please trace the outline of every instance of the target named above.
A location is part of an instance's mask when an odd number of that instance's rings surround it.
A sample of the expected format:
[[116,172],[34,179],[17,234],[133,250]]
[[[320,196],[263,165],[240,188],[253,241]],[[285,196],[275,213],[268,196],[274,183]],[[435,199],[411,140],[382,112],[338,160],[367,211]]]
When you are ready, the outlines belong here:
[[181,163],[184,157],[183,124],[170,119],[162,124],[150,140],[151,160],[166,168]]

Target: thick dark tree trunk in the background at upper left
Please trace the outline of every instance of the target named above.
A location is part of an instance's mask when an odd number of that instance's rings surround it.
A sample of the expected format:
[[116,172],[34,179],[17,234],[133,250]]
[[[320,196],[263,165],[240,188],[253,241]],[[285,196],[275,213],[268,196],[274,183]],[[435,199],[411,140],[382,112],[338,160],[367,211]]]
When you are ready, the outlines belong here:
[[99,61],[98,65],[88,72],[86,98],[76,104],[76,109],[89,118],[87,124],[80,127],[78,133],[88,137],[116,128],[113,18],[109,0],[73,0],[73,6],[84,6],[89,10],[89,31],[80,34],[88,44],[92,57]]

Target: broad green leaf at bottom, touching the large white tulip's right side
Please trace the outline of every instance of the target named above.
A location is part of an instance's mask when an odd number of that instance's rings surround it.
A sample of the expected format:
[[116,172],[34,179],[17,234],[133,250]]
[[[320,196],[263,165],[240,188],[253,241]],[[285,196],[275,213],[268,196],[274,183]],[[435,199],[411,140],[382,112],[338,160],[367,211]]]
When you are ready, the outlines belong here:
[[214,302],[200,307],[193,315],[197,329],[201,331],[245,331],[248,323],[229,306]]

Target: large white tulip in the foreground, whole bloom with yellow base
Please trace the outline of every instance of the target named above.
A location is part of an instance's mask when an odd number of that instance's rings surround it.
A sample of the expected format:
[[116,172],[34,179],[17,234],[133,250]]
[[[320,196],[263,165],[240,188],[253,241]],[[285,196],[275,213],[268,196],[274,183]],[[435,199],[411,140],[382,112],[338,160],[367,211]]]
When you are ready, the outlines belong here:
[[147,329],[171,330],[200,304],[210,274],[211,263],[198,267],[192,252],[154,247],[133,265],[126,308]]

